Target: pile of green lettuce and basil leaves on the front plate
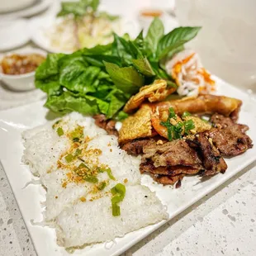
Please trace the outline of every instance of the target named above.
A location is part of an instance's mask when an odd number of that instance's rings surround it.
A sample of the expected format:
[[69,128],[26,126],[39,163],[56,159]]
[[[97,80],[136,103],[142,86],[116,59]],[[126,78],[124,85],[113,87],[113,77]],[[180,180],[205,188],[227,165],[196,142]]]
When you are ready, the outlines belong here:
[[183,50],[197,36],[200,27],[178,27],[164,35],[164,25],[155,18],[146,36],[135,40],[114,34],[109,45],[97,45],[71,55],[50,54],[36,69],[36,88],[48,95],[45,107],[51,111],[105,114],[121,119],[128,99],[155,78],[176,86],[164,69],[164,61]]

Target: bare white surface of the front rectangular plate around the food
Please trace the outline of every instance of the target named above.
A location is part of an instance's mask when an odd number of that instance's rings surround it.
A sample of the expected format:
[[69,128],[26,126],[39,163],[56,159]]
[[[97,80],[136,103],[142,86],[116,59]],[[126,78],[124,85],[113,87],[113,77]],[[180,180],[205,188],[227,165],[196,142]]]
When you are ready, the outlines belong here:
[[[216,78],[218,84],[218,94],[229,97],[237,97],[243,101],[239,122],[249,126],[248,135],[256,141],[256,110],[255,102],[250,100],[249,95],[232,87],[230,84]],[[48,110],[43,106],[43,102],[36,102],[31,105],[19,107],[0,112],[0,159],[2,166],[7,173],[7,178],[12,186],[12,191],[17,198],[17,203],[21,209],[21,214],[26,222],[31,238],[35,244],[36,252],[40,256],[69,255],[63,248],[60,248],[55,241],[55,230],[49,227],[32,225],[42,220],[40,201],[45,200],[45,192],[40,185],[29,185],[32,175],[27,166],[21,164],[23,151],[21,132],[28,128],[42,125],[46,122],[45,116]],[[152,183],[152,180],[144,175],[142,183],[157,193],[161,201],[168,206],[169,218],[172,219],[178,213],[191,206],[194,202],[204,197],[227,179],[231,178],[252,163],[256,159],[254,149],[249,149],[245,154],[233,159],[226,159],[228,169],[225,174],[218,174],[215,177],[201,182],[198,177],[184,178],[182,187],[173,187]],[[123,238],[116,239],[112,244],[96,244],[92,247],[75,251],[73,255],[118,255],[130,248],[133,244],[145,238],[156,230],[164,221],[156,225],[150,225],[144,229],[137,230]],[[109,248],[111,247],[111,248]]]

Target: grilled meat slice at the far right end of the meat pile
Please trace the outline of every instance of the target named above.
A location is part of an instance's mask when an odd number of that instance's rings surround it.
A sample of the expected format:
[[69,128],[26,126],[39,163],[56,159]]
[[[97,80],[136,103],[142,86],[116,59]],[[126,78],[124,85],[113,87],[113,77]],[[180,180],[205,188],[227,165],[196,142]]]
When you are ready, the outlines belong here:
[[213,129],[207,133],[216,148],[220,150],[220,154],[230,157],[243,154],[253,147],[252,140],[245,134],[248,129],[248,126],[234,123],[224,129]]

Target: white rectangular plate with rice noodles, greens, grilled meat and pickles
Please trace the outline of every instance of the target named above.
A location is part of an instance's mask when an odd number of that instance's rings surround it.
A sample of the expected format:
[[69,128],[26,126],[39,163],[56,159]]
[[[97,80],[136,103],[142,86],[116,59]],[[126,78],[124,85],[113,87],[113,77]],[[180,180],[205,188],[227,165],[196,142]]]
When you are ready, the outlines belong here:
[[245,92],[185,49],[200,27],[50,54],[0,112],[0,159],[38,255],[118,255],[256,159]]

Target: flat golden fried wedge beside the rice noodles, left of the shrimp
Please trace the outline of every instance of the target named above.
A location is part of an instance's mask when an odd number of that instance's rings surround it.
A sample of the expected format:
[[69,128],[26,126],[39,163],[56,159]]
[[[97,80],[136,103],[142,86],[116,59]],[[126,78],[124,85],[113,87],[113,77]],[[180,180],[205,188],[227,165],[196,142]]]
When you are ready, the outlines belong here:
[[127,141],[149,137],[151,135],[151,107],[149,105],[143,105],[133,116],[129,116],[123,121],[118,140],[122,145]]

